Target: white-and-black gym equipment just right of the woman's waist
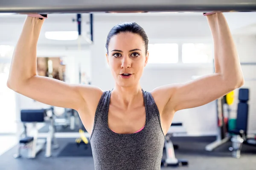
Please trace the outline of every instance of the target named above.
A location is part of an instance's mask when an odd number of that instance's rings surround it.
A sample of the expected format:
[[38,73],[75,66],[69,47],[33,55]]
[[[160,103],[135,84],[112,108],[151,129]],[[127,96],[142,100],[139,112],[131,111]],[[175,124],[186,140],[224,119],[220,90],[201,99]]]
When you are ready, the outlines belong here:
[[[182,127],[182,123],[172,123],[171,126],[176,126],[176,127]],[[175,158],[175,152],[174,149],[178,148],[178,145],[174,145],[172,143],[171,137],[173,135],[173,132],[168,131],[166,134],[166,140],[165,140],[165,148],[166,148],[166,156],[167,158],[163,161],[162,160],[162,165],[164,167],[168,166],[179,166],[179,165],[188,165],[189,162],[185,159],[177,159]]]

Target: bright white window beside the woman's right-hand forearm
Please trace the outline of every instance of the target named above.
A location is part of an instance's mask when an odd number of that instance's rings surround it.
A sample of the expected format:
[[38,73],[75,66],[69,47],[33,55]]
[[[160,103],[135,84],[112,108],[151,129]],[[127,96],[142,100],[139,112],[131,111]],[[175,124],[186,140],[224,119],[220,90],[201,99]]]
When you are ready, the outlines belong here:
[[204,43],[184,43],[182,44],[183,63],[211,63],[212,45]]

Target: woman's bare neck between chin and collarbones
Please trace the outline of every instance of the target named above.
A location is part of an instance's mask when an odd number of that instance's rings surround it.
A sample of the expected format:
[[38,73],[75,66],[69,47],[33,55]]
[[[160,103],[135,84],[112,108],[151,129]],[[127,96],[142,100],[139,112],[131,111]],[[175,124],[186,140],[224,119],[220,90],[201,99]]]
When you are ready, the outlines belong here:
[[113,97],[118,102],[119,106],[128,108],[134,104],[137,104],[138,97],[142,95],[142,88],[140,84],[132,87],[121,87],[115,85],[112,91]]

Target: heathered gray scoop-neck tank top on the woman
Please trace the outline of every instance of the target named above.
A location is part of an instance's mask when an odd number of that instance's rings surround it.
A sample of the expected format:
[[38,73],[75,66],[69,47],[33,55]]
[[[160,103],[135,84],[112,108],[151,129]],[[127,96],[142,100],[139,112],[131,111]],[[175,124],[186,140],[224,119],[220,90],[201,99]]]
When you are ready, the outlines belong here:
[[110,96],[111,91],[102,94],[90,136],[95,170],[160,170],[165,136],[152,95],[143,91],[145,127],[132,134],[114,133],[108,127]]

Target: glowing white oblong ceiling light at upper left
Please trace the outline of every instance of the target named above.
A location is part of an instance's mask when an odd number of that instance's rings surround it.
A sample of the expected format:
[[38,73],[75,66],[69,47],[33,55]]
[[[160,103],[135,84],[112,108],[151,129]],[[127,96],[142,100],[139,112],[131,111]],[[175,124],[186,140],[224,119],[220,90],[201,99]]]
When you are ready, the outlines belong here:
[[45,37],[50,40],[77,40],[77,31],[52,31],[45,32]]

